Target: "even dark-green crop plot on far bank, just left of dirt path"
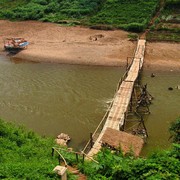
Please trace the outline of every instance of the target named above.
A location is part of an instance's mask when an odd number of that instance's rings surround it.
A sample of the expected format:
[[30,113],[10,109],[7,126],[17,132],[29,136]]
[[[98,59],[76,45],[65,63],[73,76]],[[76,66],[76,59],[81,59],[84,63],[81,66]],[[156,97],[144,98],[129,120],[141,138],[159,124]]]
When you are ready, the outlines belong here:
[[110,24],[129,31],[141,32],[156,11],[158,1],[107,0],[90,21],[95,24]]

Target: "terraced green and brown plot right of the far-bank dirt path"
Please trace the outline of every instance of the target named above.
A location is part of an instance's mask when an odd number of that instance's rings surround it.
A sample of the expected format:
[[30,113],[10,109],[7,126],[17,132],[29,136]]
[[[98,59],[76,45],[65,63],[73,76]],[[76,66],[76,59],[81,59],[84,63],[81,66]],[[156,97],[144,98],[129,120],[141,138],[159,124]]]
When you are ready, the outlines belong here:
[[150,41],[180,42],[180,1],[166,0],[160,16],[150,27]]

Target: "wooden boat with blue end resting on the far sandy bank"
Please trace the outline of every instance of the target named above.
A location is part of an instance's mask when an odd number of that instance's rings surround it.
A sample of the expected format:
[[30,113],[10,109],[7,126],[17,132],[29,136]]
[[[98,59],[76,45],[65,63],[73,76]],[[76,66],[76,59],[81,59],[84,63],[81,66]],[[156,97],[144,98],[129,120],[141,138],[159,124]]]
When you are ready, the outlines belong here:
[[18,51],[26,49],[29,42],[24,38],[6,38],[4,40],[4,49],[7,51]]

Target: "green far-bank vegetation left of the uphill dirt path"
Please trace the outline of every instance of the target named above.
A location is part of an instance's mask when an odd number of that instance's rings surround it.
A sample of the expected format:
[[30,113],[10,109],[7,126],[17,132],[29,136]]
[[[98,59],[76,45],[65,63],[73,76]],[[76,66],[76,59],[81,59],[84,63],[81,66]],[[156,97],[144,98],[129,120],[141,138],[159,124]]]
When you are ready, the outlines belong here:
[[80,22],[143,31],[159,0],[2,0],[0,18],[49,22]]

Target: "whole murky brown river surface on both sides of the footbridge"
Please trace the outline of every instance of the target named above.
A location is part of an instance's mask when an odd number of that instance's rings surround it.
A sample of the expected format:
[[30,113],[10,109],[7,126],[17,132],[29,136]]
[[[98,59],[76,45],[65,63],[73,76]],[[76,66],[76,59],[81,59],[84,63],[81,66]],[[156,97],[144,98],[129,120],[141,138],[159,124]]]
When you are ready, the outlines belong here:
[[[0,117],[42,136],[64,132],[69,146],[83,149],[114,96],[125,68],[14,62],[0,57]],[[179,72],[143,71],[154,96],[145,123],[149,138],[142,154],[168,148],[170,122],[180,116]],[[169,91],[168,87],[174,88]]]

